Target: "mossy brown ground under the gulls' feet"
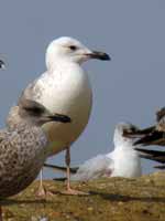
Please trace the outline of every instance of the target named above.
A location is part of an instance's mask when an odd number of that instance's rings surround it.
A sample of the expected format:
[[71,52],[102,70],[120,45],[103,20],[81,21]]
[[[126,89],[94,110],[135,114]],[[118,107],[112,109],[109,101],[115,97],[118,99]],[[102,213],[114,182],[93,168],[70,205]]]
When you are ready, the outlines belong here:
[[4,221],[165,221],[164,172],[74,183],[90,193],[81,197],[61,194],[63,182],[44,183],[54,196],[35,197],[35,181],[20,194],[1,201]]

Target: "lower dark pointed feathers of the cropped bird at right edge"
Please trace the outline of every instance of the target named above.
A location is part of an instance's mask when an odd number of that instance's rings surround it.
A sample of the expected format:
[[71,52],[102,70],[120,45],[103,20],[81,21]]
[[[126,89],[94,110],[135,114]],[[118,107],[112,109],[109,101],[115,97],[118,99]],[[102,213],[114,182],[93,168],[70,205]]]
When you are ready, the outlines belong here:
[[135,148],[140,151],[140,157],[161,162],[163,165],[155,166],[155,168],[165,169],[165,151]]

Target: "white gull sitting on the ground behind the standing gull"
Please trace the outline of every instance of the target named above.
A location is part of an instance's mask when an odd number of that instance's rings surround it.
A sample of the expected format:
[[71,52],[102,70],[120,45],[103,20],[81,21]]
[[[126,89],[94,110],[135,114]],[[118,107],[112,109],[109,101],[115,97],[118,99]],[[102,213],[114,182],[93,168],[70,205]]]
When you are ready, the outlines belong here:
[[[114,149],[106,155],[98,155],[86,160],[77,168],[72,168],[72,180],[87,181],[100,177],[133,178],[142,175],[139,152],[134,150],[133,138],[123,137],[125,131],[135,131],[138,128],[129,123],[120,123],[114,129]],[[45,167],[65,171],[64,167],[44,164]]]

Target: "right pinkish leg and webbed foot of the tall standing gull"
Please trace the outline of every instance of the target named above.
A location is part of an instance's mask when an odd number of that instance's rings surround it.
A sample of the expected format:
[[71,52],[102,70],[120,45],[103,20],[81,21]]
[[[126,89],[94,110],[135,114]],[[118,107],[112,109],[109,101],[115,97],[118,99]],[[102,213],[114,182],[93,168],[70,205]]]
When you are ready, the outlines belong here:
[[87,192],[74,190],[70,188],[70,147],[67,147],[66,155],[65,155],[65,162],[66,162],[66,176],[67,176],[67,186],[66,191],[63,191],[62,193],[65,194],[88,194]]

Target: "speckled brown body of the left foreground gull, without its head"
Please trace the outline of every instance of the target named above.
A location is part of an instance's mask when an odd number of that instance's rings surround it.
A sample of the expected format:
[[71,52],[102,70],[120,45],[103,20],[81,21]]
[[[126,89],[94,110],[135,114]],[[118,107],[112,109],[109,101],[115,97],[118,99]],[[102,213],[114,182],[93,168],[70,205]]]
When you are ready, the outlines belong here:
[[37,176],[46,158],[47,139],[40,127],[25,122],[0,131],[0,197],[16,194]]

